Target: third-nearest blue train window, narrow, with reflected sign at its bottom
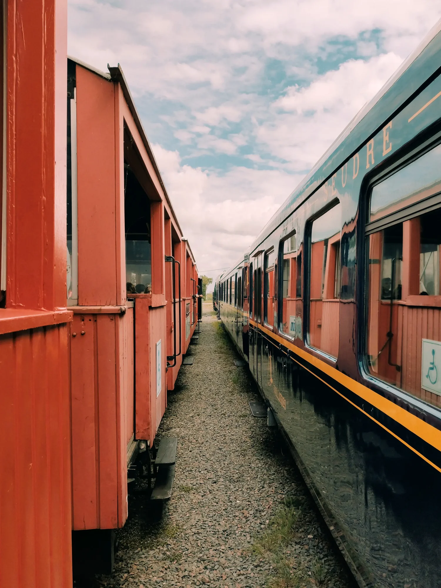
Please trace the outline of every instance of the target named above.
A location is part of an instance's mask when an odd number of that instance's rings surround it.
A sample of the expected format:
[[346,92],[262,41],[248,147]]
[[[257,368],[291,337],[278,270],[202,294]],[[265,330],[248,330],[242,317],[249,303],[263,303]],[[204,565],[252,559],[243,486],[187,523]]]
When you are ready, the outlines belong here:
[[280,305],[282,313],[279,329],[288,335],[295,335],[296,328],[296,258],[297,235],[293,233],[280,241]]

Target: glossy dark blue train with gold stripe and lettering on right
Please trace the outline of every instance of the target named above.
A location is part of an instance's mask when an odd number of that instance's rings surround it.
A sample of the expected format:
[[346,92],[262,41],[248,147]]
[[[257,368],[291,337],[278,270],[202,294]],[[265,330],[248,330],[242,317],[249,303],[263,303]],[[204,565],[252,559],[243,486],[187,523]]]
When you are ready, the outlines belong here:
[[440,31],[218,279],[363,587],[441,586]]

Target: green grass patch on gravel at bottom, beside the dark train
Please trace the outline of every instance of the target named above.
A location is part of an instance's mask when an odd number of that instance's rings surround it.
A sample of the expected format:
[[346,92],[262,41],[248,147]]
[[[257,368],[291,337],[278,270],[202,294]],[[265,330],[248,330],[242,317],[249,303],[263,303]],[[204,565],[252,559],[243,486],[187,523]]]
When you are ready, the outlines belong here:
[[253,544],[253,551],[272,565],[268,588],[309,588],[326,582],[325,566],[320,560],[295,556],[301,517],[299,501],[286,497],[268,530]]

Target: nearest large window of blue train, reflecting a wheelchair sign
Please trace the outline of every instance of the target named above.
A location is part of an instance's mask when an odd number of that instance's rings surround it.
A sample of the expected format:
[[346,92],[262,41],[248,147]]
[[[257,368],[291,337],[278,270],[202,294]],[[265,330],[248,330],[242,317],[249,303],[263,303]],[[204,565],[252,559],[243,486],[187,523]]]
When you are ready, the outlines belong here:
[[370,192],[365,363],[376,379],[439,407],[440,226],[441,146],[436,146]]

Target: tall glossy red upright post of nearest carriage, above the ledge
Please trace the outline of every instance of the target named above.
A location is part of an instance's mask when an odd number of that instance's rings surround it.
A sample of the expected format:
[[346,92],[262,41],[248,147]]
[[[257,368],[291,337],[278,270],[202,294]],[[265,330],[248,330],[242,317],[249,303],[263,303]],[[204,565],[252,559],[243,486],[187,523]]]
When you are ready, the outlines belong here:
[[66,305],[65,2],[8,2],[7,51],[6,300],[9,307],[62,308]]

